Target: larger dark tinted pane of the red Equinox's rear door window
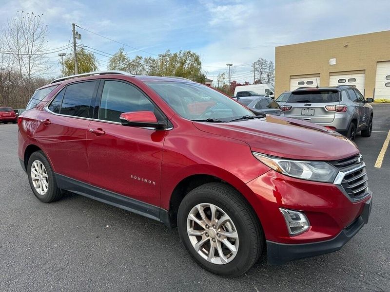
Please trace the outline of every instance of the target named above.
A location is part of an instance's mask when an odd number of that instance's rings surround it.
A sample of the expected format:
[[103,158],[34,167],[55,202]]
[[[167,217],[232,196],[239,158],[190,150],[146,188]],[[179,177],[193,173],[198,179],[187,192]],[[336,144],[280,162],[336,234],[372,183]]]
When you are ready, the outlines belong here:
[[91,101],[96,92],[98,81],[86,81],[70,84],[66,87],[61,114],[87,118],[91,110]]

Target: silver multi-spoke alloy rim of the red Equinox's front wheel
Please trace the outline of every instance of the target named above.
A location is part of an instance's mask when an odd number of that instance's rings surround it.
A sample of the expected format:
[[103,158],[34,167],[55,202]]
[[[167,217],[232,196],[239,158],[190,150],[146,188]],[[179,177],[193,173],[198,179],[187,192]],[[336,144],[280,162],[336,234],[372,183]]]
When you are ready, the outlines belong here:
[[211,203],[196,205],[187,217],[187,234],[195,251],[213,264],[223,265],[238,252],[238,233],[233,220]]

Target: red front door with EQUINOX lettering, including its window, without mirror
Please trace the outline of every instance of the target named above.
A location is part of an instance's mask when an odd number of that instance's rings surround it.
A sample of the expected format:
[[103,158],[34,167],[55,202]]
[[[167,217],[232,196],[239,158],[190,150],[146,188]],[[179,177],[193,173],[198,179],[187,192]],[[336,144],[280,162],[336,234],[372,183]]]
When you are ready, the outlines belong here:
[[90,183],[105,190],[160,205],[162,147],[165,130],[122,126],[122,112],[162,114],[137,87],[119,80],[100,84],[94,120],[87,133]]

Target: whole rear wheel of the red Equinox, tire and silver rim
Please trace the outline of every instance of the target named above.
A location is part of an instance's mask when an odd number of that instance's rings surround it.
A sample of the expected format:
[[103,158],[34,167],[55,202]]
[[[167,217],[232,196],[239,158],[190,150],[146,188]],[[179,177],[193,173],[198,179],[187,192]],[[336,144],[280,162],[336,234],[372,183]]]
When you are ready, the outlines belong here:
[[31,189],[40,201],[50,203],[62,197],[52,167],[42,151],[31,154],[27,173]]

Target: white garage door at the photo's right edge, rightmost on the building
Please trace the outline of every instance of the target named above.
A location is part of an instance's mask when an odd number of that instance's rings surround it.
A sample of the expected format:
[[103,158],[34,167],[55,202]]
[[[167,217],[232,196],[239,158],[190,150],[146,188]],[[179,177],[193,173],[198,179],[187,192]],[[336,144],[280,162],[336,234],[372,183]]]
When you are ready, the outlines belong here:
[[390,101],[390,61],[376,65],[374,98],[376,102]]

